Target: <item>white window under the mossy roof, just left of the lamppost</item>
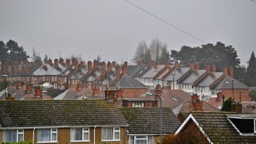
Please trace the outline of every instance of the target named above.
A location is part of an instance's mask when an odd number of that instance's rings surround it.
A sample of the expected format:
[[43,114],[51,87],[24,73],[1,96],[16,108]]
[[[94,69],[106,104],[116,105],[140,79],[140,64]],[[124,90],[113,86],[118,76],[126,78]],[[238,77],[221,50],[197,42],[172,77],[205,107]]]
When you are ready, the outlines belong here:
[[153,144],[153,135],[130,136],[130,144]]

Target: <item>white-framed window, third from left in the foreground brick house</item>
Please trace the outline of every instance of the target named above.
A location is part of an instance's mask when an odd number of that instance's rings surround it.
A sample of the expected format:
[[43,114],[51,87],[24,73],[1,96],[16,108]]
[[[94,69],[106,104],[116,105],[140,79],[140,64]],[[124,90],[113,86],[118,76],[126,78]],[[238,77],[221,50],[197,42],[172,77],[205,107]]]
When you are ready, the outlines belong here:
[[89,141],[89,128],[70,129],[71,142],[72,141]]

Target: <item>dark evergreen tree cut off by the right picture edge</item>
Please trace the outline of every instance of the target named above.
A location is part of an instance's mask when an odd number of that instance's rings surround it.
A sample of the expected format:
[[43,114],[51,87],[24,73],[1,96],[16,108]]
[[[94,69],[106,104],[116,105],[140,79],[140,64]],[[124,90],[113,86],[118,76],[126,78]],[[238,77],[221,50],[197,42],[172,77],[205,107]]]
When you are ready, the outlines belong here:
[[256,86],[256,58],[254,52],[251,54],[249,65],[246,70],[245,83],[248,86]]

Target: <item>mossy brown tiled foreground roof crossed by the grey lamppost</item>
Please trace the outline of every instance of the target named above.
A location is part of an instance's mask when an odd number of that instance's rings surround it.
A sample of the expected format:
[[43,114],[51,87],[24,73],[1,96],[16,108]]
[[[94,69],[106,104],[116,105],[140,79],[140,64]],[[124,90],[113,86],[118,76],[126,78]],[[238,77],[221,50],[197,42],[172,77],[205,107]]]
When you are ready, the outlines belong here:
[[[157,134],[160,129],[160,108],[144,107],[144,108],[120,108],[124,118],[129,123],[129,134]],[[171,108],[163,107],[163,133],[174,133],[179,127],[180,122],[173,114]]]

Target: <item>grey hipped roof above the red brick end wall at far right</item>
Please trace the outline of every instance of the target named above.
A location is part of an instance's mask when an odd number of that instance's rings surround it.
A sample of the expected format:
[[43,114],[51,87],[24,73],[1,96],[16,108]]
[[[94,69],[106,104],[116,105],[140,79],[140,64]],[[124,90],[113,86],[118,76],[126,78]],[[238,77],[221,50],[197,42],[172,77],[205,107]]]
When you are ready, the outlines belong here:
[[232,80],[234,80],[233,81],[234,89],[246,89],[246,90],[249,89],[247,85],[237,81],[234,78],[231,78],[229,75],[221,78],[220,81],[212,87],[212,89],[217,89],[217,90],[232,89],[232,85],[231,85]]

